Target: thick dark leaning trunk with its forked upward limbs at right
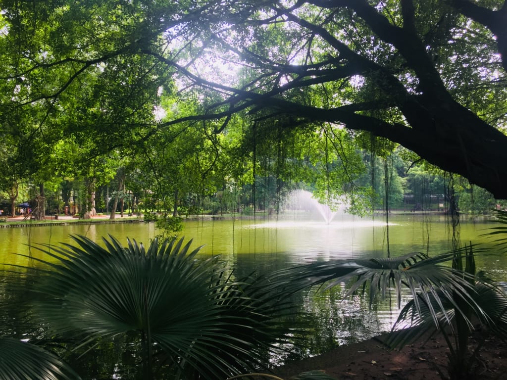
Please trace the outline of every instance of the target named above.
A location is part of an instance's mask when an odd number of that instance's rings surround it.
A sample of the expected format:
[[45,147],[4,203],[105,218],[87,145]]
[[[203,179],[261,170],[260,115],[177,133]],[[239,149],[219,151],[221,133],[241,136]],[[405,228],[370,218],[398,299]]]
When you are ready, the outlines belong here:
[[[455,3],[465,5],[463,3],[470,2]],[[382,135],[415,151],[441,169],[460,174],[470,183],[488,189],[495,198],[507,199],[507,136],[455,100],[416,32],[411,4],[407,2],[403,27],[399,28],[390,24],[366,2],[357,3],[356,11],[360,17],[382,40],[396,47],[419,80],[419,94],[410,94],[400,83],[393,81],[391,75],[385,75],[383,68],[376,67],[382,77],[377,82],[379,88],[390,93],[410,126],[392,123],[394,128],[385,129]],[[501,12],[489,13],[494,20],[502,20],[503,31],[505,14],[505,5]],[[478,9],[475,15],[479,16]],[[486,19],[480,22],[492,28]],[[365,68],[368,64],[372,68],[376,66],[360,60],[359,63],[364,64]],[[356,129],[350,123],[347,123],[347,127]]]

